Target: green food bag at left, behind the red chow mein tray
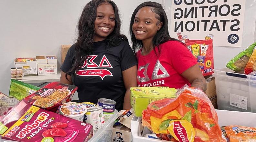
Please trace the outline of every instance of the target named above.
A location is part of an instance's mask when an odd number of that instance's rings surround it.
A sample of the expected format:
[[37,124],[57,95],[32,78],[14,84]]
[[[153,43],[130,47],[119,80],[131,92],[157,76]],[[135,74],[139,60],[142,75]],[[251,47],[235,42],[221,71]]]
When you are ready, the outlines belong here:
[[24,99],[39,90],[40,87],[24,83],[15,79],[11,79],[11,86],[9,91],[9,96],[14,97],[18,100]]

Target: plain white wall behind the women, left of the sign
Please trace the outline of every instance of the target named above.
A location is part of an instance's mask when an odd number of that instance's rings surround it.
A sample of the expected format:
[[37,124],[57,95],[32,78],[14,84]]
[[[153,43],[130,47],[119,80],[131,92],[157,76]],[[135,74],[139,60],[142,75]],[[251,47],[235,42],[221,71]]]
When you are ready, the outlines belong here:
[[[113,0],[128,35],[133,10],[146,0]],[[161,0],[154,0],[161,3]],[[60,45],[76,41],[76,25],[89,0],[0,0],[0,92],[8,95],[10,68],[16,57],[55,55]]]

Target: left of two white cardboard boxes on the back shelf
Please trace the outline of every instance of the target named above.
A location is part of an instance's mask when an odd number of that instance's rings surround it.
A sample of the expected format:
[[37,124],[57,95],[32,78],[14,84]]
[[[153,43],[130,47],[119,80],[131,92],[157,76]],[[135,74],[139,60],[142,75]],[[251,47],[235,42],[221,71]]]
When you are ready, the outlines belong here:
[[14,60],[15,67],[22,67],[23,76],[37,76],[37,64],[36,58],[33,61],[17,62],[17,58]]

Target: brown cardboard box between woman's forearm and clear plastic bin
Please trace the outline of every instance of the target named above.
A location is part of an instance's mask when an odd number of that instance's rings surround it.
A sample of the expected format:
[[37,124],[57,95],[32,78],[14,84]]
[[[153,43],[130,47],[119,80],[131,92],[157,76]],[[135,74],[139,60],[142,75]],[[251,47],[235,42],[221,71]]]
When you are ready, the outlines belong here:
[[[207,90],[205,91],[205,94],[209,97],[211,103],[216,106],[217,105],[217,93],[216,93],[214,77],[212,77],[211,81],[209,83],[207,83]],[[217,107],[214,107],[214,108],[216,109]]]

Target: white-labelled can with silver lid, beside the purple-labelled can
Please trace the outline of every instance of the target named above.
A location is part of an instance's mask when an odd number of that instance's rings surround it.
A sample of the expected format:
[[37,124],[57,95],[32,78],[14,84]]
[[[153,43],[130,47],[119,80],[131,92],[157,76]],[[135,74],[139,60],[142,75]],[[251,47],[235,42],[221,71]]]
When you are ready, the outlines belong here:
[[100,106],[88,108],[84,119],[87,124],[92,125],[95,135],[105,123],[103,108]]

